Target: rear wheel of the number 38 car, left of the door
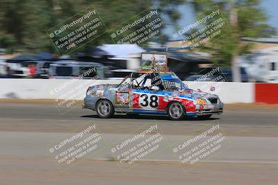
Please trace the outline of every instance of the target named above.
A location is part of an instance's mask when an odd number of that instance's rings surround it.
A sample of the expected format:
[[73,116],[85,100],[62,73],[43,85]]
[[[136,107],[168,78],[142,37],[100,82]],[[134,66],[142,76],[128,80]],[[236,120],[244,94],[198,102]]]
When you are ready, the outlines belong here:
[[99,118],[111,118],[115,113],[112,103],[106,99],[99,100],[96,111]]

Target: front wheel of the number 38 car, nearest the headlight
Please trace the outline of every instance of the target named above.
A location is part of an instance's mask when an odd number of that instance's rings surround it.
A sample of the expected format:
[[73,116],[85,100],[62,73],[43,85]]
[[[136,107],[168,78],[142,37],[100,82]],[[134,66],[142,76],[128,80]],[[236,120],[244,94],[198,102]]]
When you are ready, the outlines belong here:
[[185,110],[181,103],[175,101],[167,106],[167,114],[170,120],[181,120],[185,116]]

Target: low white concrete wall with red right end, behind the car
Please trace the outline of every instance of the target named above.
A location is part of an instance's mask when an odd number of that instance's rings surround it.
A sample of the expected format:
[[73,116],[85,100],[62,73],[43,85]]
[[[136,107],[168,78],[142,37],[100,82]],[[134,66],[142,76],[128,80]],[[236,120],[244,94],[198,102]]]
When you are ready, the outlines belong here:
[[[0,98],[17,99],[56,99],[61,94],[52,94],[64,87],[70,91],[72,87],[83,86],[81,96],[85,97],[85,89],[90,85],[101,83],[117,84],[119,80],[75,80],[70,86],[65,86],[71,80],[58,79],[0,79]],[[278,84],[255,84],[240,82],[185,82],[191,89],[218,94],[223,103],[278,103]],[[214,91],[211,91],[214,89]]]

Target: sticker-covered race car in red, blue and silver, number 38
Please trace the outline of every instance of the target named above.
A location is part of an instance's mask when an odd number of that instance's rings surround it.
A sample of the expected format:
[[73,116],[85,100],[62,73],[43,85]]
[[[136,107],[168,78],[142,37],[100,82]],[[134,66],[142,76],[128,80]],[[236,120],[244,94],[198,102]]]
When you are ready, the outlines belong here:
[[172,72],[136,71],[118,85],[89,87],[83,108],[93,109],[100,118],[124,114],[165,114],[171,120],[185,116],[209,118],[221,114],[223,103],[214,94],[189,89]]

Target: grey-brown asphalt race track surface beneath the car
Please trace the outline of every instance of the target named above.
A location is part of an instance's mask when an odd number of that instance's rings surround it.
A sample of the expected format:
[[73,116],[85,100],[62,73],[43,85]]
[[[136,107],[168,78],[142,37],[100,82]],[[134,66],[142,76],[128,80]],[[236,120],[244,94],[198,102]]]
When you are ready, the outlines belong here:
[[[69,110],[53,103],[1,102],[1,184],[277,184],[277,108],[228,105],[224,114],[206,121],[170,121],[167,116],[121,114],[101,119],[80,106]],[[165,150],[124,172],[106,148],[61,173],[47,146],[88,123],[97,125],[107,143],[140,132],[145,124],[156,123],[168,143],[219,124],[229,146],[194,168],[181,166],[172,151]]]

